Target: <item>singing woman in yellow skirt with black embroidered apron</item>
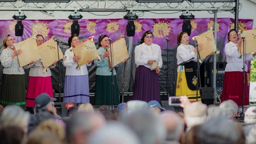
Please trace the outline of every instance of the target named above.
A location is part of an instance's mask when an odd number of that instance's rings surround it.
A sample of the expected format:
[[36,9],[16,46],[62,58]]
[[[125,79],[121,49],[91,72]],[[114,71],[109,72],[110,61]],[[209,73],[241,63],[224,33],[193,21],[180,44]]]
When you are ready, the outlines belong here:
[[[177,87],[176,96],[187,95],[190,101],[197,101],[197,48],[189,45],[189,35],[181,32],[177,35]],[[198,50],[202,45],[198,46]],[[181,65],[183,64],[183,65]],[[201,101],[198,90],[198,101]]]

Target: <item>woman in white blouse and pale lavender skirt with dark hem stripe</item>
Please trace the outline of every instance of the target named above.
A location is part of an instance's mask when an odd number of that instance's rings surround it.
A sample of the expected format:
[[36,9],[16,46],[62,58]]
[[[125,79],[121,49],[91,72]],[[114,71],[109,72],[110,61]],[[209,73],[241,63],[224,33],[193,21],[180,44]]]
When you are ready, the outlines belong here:
[[66,67],[64,102],[89,103],[89,75],[87,66],[91,66],[90,59],[86,65],[78,67],[81,55],[74,55],[73,46],[79,43],[76,34],[69,37],[69,49],[65,52],[63,65]]

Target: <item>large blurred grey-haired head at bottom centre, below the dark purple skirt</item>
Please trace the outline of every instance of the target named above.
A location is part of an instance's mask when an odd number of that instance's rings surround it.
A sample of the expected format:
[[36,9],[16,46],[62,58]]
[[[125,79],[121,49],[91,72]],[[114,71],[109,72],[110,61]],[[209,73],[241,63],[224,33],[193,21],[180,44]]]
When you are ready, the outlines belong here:
[[137,133],[141,144],[165,141],[166,130],[163,123],[148,109],[132,111],[122,117],[121,121]]

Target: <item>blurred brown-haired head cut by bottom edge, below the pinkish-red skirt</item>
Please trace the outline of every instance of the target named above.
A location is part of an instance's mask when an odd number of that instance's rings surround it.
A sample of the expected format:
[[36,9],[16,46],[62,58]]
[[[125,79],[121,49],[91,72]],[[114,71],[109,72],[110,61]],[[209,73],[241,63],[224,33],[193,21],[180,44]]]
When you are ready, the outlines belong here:
[[62,144],[58,137],[54,134],[47,133],[46,131],[34,130],[32,131],[22,144]]

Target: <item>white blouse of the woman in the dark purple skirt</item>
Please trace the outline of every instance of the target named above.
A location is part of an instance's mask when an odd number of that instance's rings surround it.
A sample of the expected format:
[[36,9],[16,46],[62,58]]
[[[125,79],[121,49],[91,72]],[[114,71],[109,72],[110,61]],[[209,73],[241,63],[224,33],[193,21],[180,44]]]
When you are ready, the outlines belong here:
[[145,66],[150,69],[147,61],[152,59],[158,62],[159,68],[163,65],[161,47],[157,44],[152,43],[150,46],[147,46],[145,43],[142,43],[135,47],[134,53],[136,67]]

